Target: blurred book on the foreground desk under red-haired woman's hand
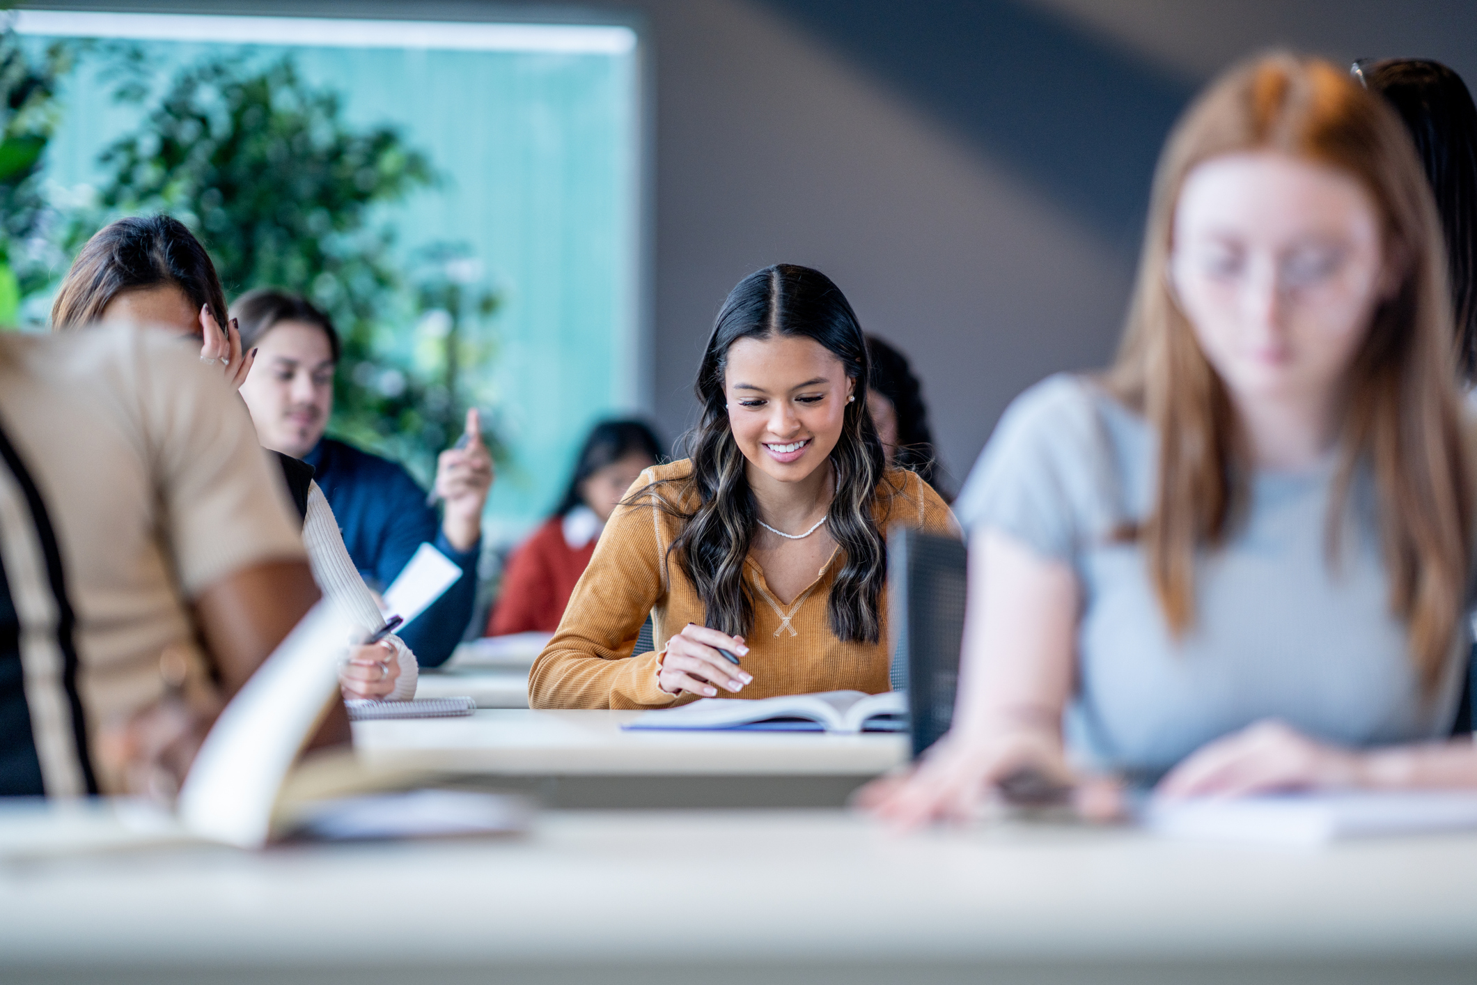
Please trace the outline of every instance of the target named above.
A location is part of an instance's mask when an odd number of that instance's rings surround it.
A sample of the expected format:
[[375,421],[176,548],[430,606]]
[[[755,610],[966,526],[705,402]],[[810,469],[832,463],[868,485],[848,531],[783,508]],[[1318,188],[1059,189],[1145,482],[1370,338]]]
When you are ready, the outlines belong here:
[[1350,837],[1477,830],[1477,792],[1349,790],[1151,799],[1142,820],[1149,830],[1173,837],[1323,845]]

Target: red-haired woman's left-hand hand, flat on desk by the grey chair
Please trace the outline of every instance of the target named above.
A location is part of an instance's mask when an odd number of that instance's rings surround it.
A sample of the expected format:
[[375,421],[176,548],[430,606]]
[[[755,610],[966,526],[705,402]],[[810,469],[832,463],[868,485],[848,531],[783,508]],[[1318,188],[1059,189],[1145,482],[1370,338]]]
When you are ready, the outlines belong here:
[[1060,730],[1022,725],[988,737],[948,732],[913,771],[863,787],[857,805],[901,828],[931,821],[967,823],[1000,799],[1001,781],[1024,771],[1065,794],[1075,789]]

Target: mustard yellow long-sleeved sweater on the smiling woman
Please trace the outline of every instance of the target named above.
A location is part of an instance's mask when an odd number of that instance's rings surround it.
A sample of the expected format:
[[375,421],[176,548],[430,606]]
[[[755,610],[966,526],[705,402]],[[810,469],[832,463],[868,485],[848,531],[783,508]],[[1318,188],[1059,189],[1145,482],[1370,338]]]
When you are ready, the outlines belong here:
[[[642,473],[632,489],[688,474],[687,459],[657,465]],[[668,694],[656,684],[657,654],[666,639],[690,622],[706,622],[693,582],[675,560],[665,563],[679,520],[659,509],[654,496],[671,501],[672,489],[663,486],[642,502],[619,507],[610,517],[558,631],[529,673],[532,707],[640,709],[694,700],[688,694]],[[910,471],[888,470],[877,486],[873,515],[883,530],[907,524],[959,536],[948,505]],[[842,642],[832,634],[827,601],[840,563],[837,551],[809,588],[781,605],[765,585],[764,572],[752,557],[747,560],[744,580],[755,598],[755,619],[746,635],[749,654],[743,667],[753,675],[753,684],[733,697],[845,688],[876,694],[889,688],[886,594],[880,642]],[[656,629],[656,651],[632,654],[647,613]]]

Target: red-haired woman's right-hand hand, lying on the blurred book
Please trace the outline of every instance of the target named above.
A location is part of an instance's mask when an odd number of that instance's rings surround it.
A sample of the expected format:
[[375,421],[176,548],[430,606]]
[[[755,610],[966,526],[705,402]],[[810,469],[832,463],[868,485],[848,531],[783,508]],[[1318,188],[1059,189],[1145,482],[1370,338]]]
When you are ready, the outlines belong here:
[[1363,758],[1278,721],[1257,722],[1198,749],[1159,781],[1165,797],[1241,797],[1273,790],[1360,786]]

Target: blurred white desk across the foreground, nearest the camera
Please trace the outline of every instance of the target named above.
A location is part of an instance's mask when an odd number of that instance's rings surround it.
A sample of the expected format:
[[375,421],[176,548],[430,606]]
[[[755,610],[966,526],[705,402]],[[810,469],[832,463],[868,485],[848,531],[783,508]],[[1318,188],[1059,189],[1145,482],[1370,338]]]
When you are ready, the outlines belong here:
[[[490,981],[468,969],[499,982],[1471,982],[1477,836],[1279,851],[1071,827],[904,837],[843,812],[551,812],[507,840],[0,862],[0,955],[114,982],[170,967],[171,982],[205,981],[179,967],[214,969],[210,982],[261,967],[318,982]],[[359,970],[334,978],[346,963]]]

